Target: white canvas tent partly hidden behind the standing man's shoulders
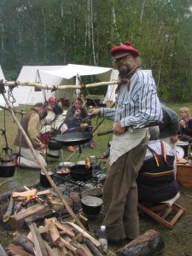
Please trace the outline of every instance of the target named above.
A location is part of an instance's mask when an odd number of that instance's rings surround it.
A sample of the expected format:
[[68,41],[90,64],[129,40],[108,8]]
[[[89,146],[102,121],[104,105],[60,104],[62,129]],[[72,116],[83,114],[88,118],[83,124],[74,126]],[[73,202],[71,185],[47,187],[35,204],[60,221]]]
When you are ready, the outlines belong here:
[[[147,72],[149,75],[152,75],[151,70],[143,70],[144,72]],[[119,71],[116,69],[113,69],[112,74],[111,74],[111,79],[110,81],[115,81],[118,79]],[[108,85],[108,90],[104,98],[104,103],[107,102],[115,102],[115,90],[117,88],[117,84],[110,84]]]

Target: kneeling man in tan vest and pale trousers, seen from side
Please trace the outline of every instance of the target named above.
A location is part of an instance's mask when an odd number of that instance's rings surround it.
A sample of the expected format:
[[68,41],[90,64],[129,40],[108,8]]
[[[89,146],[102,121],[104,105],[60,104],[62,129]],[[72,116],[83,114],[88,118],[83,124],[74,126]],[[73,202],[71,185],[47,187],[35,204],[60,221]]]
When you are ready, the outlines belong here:
[[[40,119],[44,116],[44,104],[37,103],[34,108],[30,109],[29,112],[26,113],[24,118],[22,119],[22,127],[24,131],[26,131],[26,135],[29,137],[33,148],[36,151],[38,159],[44,165],[47,166],[44,157],[40,154],[45,154],[46,148],[43,143],[39,140],[40,133]],[[31,149],[26,143],[25,137],[21,134],[20,130],[18,130],[18,134],[15,138],[15,146],[17,152],[20,153],[18,159],[16,159],[16,164],[22,167],[29,167],[34,169],[40,169],[37,161],[35,160]],[[39,153],[40,152],[40,153]]]

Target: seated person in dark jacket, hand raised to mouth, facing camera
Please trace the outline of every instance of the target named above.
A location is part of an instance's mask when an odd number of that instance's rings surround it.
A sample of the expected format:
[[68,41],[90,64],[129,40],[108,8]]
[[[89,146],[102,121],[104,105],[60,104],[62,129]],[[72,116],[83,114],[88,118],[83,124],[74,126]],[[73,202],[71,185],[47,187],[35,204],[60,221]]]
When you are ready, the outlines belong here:
[[[76,98],[74,99],[73,106],[68,108],[66,116],[68,132],[82,130],[91,132],[93,130],[93,126],[90,123],[87,109],[82,104],[82,100],[80,98]],[[92,138],[90,139],[89,145],[90,148],[96,147]]]

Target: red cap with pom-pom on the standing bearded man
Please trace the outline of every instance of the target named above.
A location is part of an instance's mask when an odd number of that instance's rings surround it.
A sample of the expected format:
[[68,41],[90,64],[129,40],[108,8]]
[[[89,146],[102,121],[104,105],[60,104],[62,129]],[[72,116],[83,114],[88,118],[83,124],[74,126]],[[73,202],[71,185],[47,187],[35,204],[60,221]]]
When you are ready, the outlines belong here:
[[129,41],[126,41],[123,45],[116,46],[110,50],[110,54],[113,59],[121,58],[129,53],[135,56],[140,55],[138,49],[131,47],[131,43]]

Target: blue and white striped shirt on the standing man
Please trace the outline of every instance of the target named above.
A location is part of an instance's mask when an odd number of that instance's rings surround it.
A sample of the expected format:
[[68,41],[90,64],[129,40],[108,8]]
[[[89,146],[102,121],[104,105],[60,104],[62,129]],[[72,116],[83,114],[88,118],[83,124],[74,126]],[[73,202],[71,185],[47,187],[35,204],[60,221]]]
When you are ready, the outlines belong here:
[[115,108],[101,108],[100,116],[121,122],[122,127],[142,128],[150,122],[162,120],[162,110],[154,79],[138,69],[131,77],[130,90],[122,84]]

